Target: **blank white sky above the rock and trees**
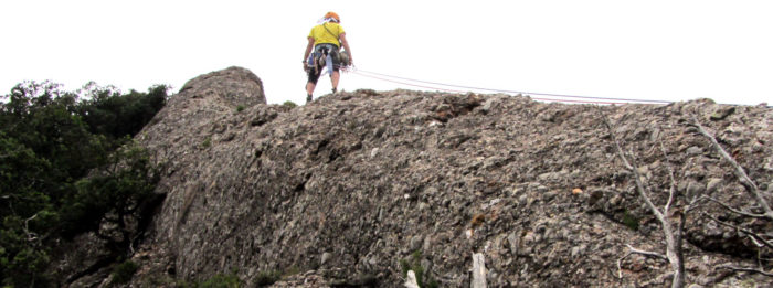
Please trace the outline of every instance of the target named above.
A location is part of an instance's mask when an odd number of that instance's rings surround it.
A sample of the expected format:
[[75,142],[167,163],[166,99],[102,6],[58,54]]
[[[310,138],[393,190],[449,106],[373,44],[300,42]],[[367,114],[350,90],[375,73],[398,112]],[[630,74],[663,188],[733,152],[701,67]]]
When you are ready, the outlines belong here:
[[[533,93],[773,102],[769,0],[2,1],[0,95],[27,79],[177,92],[236,65],[263,79],[268,103],[303,104],[298,60],[327,11],[341,17],[360,71]],[[339,89],[357,88],[426,89],[343,74]],[[315,97],[329,92],[324,76]]]

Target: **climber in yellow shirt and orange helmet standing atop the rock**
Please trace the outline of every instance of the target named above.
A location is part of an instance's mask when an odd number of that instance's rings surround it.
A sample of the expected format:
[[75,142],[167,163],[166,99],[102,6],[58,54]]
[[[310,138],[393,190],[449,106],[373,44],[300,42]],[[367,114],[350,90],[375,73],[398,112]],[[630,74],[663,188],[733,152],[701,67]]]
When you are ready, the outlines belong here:
[[[338,79],[340,78],[339,68],[342,66],[353,65],[354,61],[351,58],[351,49],[349,49],[349,43],[347,42],[346,32],[340,25],[341,19],[335,12],[327,12],[325,17],[319,21],[319,24],[311,29],[308,35],[308,45],[306,46],[306,53],[304,54],[304,70],[308,74],[308,82],[306,83],[306,103],[311,102],[311,94],[314,94],[314,88],[317,86],[317,81],[322,72],[324,67],[327,67],[328,73],[330,73],[330,81],[332,82],[332,94],[336,94],[338,88]],[[341,53],[339,49],[343,46],[346,53],[343,57],[348,56],[348,63],[342,63]],[[314,49],[314,53],[311,53]],[[346,61],[343,61],[346,62]]]

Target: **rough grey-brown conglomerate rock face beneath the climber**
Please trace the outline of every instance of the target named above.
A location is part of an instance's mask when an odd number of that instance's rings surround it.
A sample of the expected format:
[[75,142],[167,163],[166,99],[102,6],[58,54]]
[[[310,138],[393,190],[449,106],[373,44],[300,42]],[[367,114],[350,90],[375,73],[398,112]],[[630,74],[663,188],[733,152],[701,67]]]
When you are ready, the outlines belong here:
[[[773,111],[764,107],[410,90],[341,93],[296,108],[265,103],[248,71],[210,73],[137,137],[167,166],[158,188],[167,198],[134,256],[135,285],[235,271],[248,287],[268,273],[283,275],[277,287],[402,287],[404,266],[417,258],[425,284],[469,287],[474,254],[490,287],[666,285],[667,263],[621,260],[626,244],[665,246],[602,115],[660,206],[668,169],[680,193],[751,203],[686,125],[692,116],[756,183],[772,180]],[[706,203],[687,216],[688,282],[756,280],[716,267],[751,267],[750,255],[770,250],[703,212],[729,215]]]

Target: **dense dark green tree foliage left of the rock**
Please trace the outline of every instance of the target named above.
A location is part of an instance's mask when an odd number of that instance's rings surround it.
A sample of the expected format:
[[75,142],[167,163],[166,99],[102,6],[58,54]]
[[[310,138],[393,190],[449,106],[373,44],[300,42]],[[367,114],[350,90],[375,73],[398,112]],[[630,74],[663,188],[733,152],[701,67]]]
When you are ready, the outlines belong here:
[[147,202],[158,173],[130,137],[163,107],[167,89],[121,94],[91,83],[66,92],[28,82],[2,96],[0,285],[46,286],[57,239],[125,223]]

